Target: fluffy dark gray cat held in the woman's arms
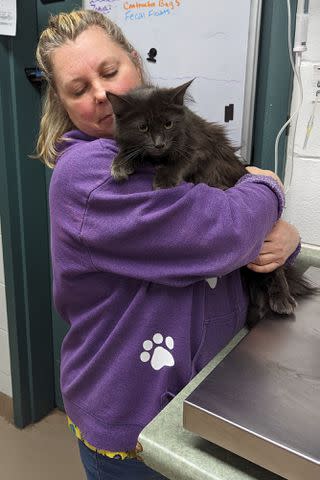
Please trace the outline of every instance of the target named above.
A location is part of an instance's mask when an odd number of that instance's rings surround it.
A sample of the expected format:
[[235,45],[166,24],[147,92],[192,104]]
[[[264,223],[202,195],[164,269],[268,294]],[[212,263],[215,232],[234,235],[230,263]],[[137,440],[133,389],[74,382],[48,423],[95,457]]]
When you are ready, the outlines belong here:
[[[248,173],[224,127],[207,122],[184,104],[191,83],[176,88],[143,86],[121,96],[107,92],[120,149],[111,169],[116,181],[128,179],[147,163],[156,167],[154,189],[188,181],[225,190]],[[317,291],[292,266],[265,274],[246,267],[241,272],[250,296],[249,327],[271,312],[292,314],[297,297]]]

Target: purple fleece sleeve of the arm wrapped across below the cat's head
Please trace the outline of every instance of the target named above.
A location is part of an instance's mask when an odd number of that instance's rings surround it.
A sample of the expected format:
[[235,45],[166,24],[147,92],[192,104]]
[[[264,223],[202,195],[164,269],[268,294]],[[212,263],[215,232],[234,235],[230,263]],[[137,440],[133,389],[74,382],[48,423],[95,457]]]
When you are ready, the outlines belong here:
[[112,179],[91,192],[81,240],[96,270],[177,287],[254,260],[284,198],[270,177],[226,191],[184,183],[123,194]]

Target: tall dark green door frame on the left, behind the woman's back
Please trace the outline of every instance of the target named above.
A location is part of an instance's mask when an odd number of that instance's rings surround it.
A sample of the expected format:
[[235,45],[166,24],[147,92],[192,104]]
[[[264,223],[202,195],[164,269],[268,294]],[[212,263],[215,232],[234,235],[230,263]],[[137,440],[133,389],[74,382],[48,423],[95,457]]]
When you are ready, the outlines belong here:
[[0,36],[0,214],[14,423],[24,427],[54,407],[47,190],[34,152],[40,97],[34,65],[36,0],[18,1],[17,35]]

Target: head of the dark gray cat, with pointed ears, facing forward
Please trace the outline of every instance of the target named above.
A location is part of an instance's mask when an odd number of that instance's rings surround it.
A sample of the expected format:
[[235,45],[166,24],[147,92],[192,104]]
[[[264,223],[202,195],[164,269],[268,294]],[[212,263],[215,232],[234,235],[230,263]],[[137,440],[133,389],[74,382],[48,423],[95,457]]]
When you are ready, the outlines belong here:
[[125,95],[107,92],[120,146],[153,158],[179,148],[185,134],[184,99],[192,81],[175,88],[143,86]]

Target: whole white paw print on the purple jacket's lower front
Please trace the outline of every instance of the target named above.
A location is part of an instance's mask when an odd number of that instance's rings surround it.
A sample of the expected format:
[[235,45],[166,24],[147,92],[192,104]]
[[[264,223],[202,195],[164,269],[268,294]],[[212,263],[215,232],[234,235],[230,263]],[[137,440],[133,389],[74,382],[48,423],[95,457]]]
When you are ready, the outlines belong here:
[[[163,341],[165,342],[166,348],[162,346]],[[173,367],[174,358],[171,352],[169,352],[173,347],[174,341],[172,337],[166,337],[164,339],[161,333],[155,333],[152,341],[145,340],[143,342],[144,351],[140,354],[140,360],[141,362],[150,361],[151,367],[154,370],[160,370],[163,367]],[[153,352],[151,352],[152,349],[154,349]]]

